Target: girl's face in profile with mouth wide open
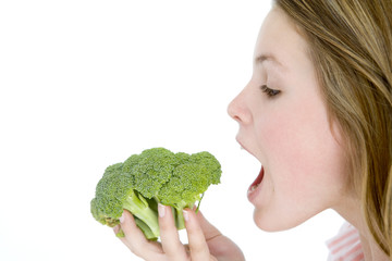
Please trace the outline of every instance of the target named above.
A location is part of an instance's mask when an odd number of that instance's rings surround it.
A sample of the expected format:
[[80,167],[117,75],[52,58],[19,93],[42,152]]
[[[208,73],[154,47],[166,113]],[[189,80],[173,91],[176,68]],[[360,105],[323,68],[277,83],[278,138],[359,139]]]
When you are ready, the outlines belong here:
[[262,164],[248,191],[261,229],[291,228],[341,203],[340,130],[329,122],[307,42],[282,10],[266,17],[250,82],[228,110],[240,124],[237,141]]

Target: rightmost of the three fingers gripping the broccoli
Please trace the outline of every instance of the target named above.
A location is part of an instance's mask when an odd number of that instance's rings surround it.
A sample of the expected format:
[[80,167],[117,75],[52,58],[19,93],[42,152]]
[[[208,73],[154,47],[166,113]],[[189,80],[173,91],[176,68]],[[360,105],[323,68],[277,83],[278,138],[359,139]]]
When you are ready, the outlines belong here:
[[210,260],[208,245],[195,212],[192,210],[184,210],[183,213],[192,260]]

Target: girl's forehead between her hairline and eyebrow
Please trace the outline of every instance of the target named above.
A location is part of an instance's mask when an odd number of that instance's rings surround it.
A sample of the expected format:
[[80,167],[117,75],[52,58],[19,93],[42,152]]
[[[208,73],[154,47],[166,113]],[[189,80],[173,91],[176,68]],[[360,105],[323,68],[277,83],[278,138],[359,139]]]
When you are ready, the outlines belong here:
[[270,63],[282,67],[298,65],[307,59],[307,42],[295,24],[279,8],[273,8],[260,28],[256,47],[255,63]]

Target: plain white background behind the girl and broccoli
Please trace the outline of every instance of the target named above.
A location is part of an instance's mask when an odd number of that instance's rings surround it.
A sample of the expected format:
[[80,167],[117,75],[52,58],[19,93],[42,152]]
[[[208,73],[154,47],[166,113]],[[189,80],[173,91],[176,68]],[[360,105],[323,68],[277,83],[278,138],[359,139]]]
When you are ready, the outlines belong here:
[[162,146],[222,163],[205,215],[247,260],[326,260],[327,211],[265,233],[246,190],[260,164],[226,105],[252,74],[270,1],[0,2],[0,260],[138,260],[89,213],[109,164]]

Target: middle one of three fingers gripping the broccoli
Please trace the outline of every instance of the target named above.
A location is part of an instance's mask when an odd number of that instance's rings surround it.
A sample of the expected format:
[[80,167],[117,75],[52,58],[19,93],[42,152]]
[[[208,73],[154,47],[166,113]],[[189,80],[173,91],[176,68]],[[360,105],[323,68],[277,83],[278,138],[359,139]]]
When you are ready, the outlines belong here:
[[171,207],[159,204],[158,212],[160,238],[168,260],[187,260],[185,248],[180,241],[179,233],[174,224]]

